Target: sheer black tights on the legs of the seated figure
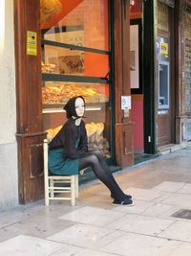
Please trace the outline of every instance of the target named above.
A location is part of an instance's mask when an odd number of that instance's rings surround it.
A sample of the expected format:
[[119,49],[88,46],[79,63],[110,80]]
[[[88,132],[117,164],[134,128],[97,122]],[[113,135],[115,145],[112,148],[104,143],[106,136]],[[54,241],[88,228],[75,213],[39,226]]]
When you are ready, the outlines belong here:
[[113,198],[120,201],[124,199],[124,193],[117,185],[100,151],[89,151],[86,156],[79,159],[79,170],[87,167],[92,167],[96,177],[108,187]]

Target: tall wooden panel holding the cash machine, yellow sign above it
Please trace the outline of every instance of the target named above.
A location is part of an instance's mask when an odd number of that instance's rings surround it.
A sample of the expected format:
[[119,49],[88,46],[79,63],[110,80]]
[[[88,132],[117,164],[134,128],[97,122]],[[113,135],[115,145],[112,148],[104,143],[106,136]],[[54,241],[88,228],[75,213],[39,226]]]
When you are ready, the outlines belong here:
[[157,147],[175,143],[175,80],[173,9],[158,2],[157,75],[158,113]]

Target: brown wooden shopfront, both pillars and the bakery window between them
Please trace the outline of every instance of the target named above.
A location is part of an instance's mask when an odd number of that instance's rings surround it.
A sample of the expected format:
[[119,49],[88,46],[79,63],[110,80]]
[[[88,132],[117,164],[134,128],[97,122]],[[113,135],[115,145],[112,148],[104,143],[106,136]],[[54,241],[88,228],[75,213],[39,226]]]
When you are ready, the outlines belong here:
[[121,106],[130,95],[128,1],[15,0],[14,26],[19,201],[44,198],[43,139],[75,95],[86,100],[89,148],[132,165],[131,109]]

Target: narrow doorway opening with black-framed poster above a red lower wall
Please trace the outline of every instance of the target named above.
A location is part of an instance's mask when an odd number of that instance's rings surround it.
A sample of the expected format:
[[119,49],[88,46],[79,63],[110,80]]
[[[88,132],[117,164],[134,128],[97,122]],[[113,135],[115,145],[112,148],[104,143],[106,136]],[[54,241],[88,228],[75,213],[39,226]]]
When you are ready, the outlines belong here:
[[134,123],[134,149],[136,163],[144,154],[143,90],[142,90],[142,20],[130,21],[130,74],[132,121]]

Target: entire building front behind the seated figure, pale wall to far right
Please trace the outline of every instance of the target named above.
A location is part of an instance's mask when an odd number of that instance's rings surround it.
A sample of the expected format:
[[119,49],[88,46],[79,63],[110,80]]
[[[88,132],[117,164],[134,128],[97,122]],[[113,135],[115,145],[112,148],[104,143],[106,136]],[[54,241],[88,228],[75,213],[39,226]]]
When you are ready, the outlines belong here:
[[74,95],[110,165],[190,140],[190,1],[2,3],[1,209],[44,197],[43,139]]

